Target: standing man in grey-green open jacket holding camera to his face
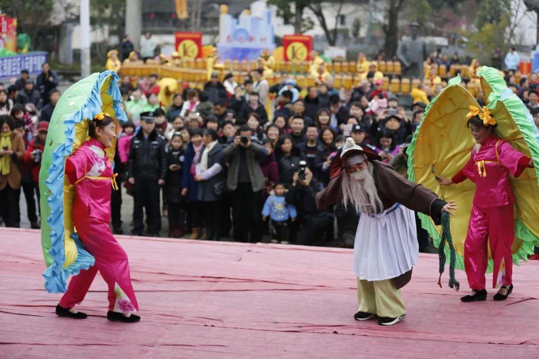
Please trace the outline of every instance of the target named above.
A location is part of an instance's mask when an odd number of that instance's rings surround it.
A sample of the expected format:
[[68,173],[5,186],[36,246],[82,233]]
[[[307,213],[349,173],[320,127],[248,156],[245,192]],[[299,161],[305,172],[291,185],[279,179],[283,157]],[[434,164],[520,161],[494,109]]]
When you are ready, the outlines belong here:
[[234,240],[256,243],[261,239],[260,191],[264,188],[260,161],[266,158],[268,152],[264,146],[251,142],[251,136],[251,129],[246,125],[241,126],[224,153],[229,163],[226,187],[232,191]]

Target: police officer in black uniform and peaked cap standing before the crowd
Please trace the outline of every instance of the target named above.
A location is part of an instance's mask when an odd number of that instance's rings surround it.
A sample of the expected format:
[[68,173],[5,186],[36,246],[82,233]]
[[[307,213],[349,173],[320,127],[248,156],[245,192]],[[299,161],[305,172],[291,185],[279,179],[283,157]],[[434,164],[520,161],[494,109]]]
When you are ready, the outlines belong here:
[[139,132],[131,139],[127,171],[129,182],[133,185],[134,236],[141,236],[143,210],[146,208],[146,235],[157,237],[161,230],[160,189],[167,174],[165,145],[167,140],[155,130],[153,112],[140,114]]

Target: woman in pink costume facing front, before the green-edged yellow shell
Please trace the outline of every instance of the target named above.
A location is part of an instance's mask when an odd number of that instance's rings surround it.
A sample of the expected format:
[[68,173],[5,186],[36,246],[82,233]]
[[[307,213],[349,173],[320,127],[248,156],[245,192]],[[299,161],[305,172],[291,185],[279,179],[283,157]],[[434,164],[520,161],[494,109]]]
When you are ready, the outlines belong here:
[[[486,107],[483,112],[470,107],[468,127],[476,141],[466,165],[451,180],[439,177],[441,185],[451,185],[469,179],[475,183],[472,214],[464,245],[464,266],[472,292],[461,300],[485,300],[485,272],[488,247],[494,262],[492,286],[500,285],[494,300],[505,300],[513,291],[513,254],[515,237],[513,203],[509,174],[519,177],[533,162],[516,151],[494,133],[496,121]],[[487,242],[488,238],[488,242]]]

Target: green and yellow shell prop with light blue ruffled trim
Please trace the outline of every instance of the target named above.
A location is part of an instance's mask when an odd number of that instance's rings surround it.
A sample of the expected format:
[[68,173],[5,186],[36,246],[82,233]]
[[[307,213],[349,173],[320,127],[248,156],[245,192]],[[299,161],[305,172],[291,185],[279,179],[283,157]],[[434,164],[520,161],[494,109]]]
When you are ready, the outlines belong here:
[[[127,121],[121,102],[118,74],[105,71],[74,83],[54,107],[39,172],[41,240],[47,265],[43,277],[50,293],[65,292],[67,278],[95,262],[73,228],[75,188],[67,181],[65,160],[89,139],[88,122],[99,112],[114,117],[117,130],[119,121]],[[106,150],[111,163],[115,145]]]

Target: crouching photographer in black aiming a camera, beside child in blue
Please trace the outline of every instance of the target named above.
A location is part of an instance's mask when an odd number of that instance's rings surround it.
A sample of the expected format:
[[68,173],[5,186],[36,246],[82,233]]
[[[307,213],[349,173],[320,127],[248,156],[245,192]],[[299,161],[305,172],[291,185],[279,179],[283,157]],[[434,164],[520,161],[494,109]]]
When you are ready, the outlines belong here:
[[313,172],[306,161],[300,161],[300,170],[294,173],[292,187],[285,195],[285,201],[294,205],[298,212],[300,225],[296,235],[296,244],[313,245],[322,242],[323,235],[333,228],[333,215],[316,209],[315,196],[322,190],[322,185],[313,178]]

